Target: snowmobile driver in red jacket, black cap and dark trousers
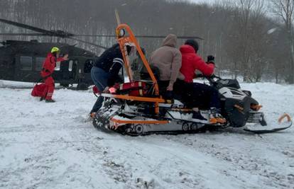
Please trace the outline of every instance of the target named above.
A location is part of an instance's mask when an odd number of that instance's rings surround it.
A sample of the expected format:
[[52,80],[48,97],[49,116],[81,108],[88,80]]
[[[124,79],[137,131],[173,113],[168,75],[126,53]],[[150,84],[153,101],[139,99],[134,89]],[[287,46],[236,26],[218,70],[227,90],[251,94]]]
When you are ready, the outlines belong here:
[[[184,83],[189,86],[192,91],[191,98],[196,99],[193,107],[209,106],[210,108],[210,122],[212,123],[224,123],[226,120],[221,115],[221,105],[219,100],[219,93],[212,86],[208,86],[200,83],[193,83],[195,79],[196,71],[201,71],[205,76],[211,76],[214,73],[214,57],[212,55],[207,57],[205,62],[197,51],[199,45],[195,40],[186,40],[185,45],[180,47],[182,54],[182,67],[180,73],[185,76]],[[192,90],[191,90],[192,87]],[[203,105],[206,103],[205,105]],[[203,120],[204,118],[199,111],[195,110],[193,113],[194,119]]]

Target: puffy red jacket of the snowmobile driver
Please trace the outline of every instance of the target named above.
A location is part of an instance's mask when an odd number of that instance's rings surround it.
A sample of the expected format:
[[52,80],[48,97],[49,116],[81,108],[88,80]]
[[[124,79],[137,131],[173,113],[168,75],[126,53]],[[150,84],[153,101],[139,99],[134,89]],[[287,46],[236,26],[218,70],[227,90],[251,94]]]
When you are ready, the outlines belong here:
[[182,53],[182,67],[180,72],[185,76],[186,82],[193,82],[196,69],[201,71],[205,76],[210,76],[214,72],[214,64],[207,64],[196,54],[193,47],[190,45],[182,45],[180,47]]

